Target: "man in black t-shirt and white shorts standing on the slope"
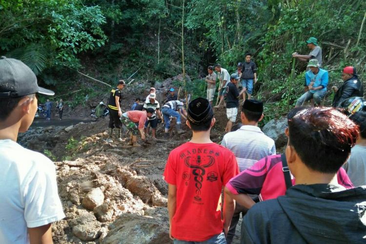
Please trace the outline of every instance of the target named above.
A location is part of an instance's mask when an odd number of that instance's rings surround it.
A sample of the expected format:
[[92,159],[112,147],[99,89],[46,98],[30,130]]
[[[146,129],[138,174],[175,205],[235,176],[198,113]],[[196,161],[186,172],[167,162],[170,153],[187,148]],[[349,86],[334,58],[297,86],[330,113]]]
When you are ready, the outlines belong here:
[[225,132],[230,132],[233,123],[236,121],[239,107],[239,91],[236,84],[240,80],[238,74],[234,73],[230,76],[230,82],[226,87],[226,116],[229,120],[226,124]]

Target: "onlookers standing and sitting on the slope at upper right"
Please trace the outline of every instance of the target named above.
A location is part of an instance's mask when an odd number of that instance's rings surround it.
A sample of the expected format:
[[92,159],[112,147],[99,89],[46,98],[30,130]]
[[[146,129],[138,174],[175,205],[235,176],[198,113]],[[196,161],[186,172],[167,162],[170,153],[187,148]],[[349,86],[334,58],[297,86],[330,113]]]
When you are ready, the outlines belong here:
[[[310,101],[311,106],[324,105],[325,97],[328,93],[328,71],[321,68],[322,48],[318,45],[315,37],[310,37],[306,44],[310,50],[308,55],[300,55],[297,52],[292,54],[293,58],[299,61],[308,61],[305,72],[304,90],[305,93],[297,100],[296,107],[304,106],[305,102]],[[218,100],[214,108],[226,107],[227,125],[225,132],[230,132],[232,123],[236,121],[238,115],[239,101],[243,96],[243,102],[251,99],[253,94],[253,85],[257,83],[257,65],[252,61],[250,53],[245,54],[245,61],[239,62],[235,73],[229,75],[221,64],[207,67],[208,75],[205,77],[207,82],[207,100],[213,105],[216,92],[216,83],[219,82]],[[342,102],[351,97],[363,97],[364,88],[362,82],[358,79],[355,67],[346,66],[342,72],[344,81],[340,88],[332,86],[331,90],[335,92],[332,107],[340,107]],[[240,89],[242,87],[242,89]]]

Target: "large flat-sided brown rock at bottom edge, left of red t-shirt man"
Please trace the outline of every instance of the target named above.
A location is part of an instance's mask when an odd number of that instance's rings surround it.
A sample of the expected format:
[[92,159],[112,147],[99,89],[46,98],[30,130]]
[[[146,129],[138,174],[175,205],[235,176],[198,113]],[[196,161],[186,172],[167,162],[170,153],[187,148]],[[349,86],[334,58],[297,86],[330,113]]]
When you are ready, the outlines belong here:
[[171,243],[167,223],[147,216],[122,214],[108,227],[103,244],[165,244]]

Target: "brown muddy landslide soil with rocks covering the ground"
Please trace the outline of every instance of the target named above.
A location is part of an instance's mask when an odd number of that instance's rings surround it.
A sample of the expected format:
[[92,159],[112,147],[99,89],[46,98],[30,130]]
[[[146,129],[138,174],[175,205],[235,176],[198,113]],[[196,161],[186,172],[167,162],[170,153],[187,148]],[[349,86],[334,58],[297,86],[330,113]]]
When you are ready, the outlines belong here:
[[[163,95],[159,96],[162,100]],[[126,99],[133,102],[134,97]],[[125,110],[128,105],[124,106]],[[75,112],[86,114],[89,109],[89,106],[74,109],[69,118],[65,117],[65,124],[57,119],[36,120],[28,132],[19,137],[20,144],[46,153],[55,161],[66,218],[53,225],[54,242],[171,243],[167,184],[162,175],[169,152],[192,135],[185,121],[182,128],[186,133],[178,135],[172,121],[170,138],[163,140],[160,124],[159,140],[149,138],[146,143],[140,142],[140,147],[133,147],[127,145],[126,134],[124,142],[108,142],[108,118],[89,122],[75,116]],[[221,142],[226,113],[225,109],[214,112],[217,122],[211,131],[211,140]],[[239,228],[240,225],[237,233],[240,233]],[[239,243],[239,237],[234,243]]]

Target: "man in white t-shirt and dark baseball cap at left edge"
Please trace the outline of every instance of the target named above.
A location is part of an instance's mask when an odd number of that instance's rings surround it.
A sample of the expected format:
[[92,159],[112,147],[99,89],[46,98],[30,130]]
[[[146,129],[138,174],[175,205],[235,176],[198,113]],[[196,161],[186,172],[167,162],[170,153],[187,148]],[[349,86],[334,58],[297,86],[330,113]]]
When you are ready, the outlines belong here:
[[55,166],[17,143],[37,112],[41,88],[31,69],[0,58],[0,243],[52,243],[51,224],[65,217]]

